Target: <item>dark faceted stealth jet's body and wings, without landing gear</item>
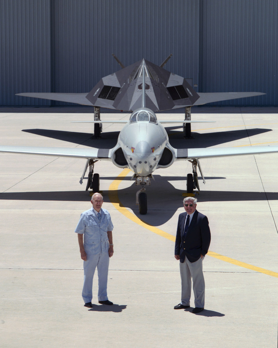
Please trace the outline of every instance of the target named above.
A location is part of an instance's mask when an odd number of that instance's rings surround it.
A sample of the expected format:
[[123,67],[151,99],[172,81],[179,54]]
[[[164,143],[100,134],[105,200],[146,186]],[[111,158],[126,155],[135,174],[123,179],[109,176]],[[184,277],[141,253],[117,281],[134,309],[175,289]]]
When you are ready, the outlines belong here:
[[[142,64],[142,62],[145,64]],[[143,68],[144,65],[144,68]],[[161,64],[162,66],[164,64]],[[197,93],[187,80],[149,61],[141,60],[103,77],[89,93],[19,93],[19,96],[42,98],[114,110],[134,111],[141,107],[145,73],[145,107],[156,111],[262,95],[260,92]]]

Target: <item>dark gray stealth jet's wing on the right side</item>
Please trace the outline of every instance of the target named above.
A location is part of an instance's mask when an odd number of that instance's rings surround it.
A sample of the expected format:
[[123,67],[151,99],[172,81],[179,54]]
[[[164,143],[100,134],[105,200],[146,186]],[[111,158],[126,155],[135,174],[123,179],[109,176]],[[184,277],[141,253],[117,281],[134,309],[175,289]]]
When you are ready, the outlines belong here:
[[[221,102],[223,100],[255,97],[263,95],[261,92],[221,92],[221,93],[198,93],[199,99],[193,105],[203,105],[206,103]],[[186,106],[186,105],[185,105]]]

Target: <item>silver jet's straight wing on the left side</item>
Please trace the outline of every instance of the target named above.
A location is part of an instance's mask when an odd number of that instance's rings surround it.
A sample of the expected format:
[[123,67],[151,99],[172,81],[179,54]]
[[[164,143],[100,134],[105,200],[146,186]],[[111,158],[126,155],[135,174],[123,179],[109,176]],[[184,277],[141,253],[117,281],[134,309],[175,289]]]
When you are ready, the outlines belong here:
[[78,157],[86,159],[111,160],[111,149],[50,148],[39,146],[0,146],[0,152],[26,153],[56,157]]

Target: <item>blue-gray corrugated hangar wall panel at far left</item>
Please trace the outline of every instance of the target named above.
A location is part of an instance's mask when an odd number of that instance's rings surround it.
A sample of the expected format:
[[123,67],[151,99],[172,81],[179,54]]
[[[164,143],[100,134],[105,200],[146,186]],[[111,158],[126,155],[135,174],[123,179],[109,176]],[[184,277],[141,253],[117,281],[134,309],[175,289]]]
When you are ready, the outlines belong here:
[[0,1],[0,105],[50,105],[15,96],[50,89],[49,0]]

